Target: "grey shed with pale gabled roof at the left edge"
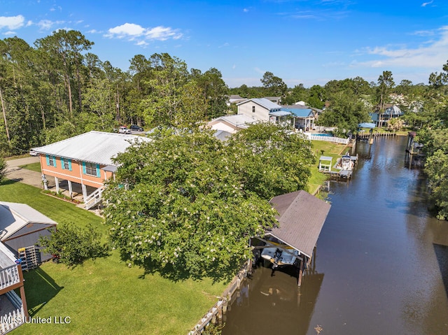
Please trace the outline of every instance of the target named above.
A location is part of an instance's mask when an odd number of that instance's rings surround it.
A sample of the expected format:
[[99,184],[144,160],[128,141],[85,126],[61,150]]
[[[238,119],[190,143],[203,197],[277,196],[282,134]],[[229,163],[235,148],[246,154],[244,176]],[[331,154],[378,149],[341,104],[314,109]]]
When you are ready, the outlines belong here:
[[[18,250],[38,244],[39,236],[55,231],[57,222],[27,204],[0,202],[0,241],[18,257]],[[40,252],[41,261],[51,255]],[[18,257],[19,258],[19,257]]]

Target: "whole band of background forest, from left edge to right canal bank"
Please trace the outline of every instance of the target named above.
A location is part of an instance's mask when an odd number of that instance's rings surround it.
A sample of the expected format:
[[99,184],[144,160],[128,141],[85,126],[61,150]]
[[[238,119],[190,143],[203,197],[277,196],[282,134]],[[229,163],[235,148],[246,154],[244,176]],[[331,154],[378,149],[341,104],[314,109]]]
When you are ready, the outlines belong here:
[[[188,69],[167,53],[135,55],[123,71],[92,54],[93,44],[75,30],[55,31],[32,46],[18,37],[0,40],[0,157],[85,131],[114,131],[120,124],[197,127],[232,113],[226,105],[230,94],[281,97],[283,105],[305,101],[325,108],[318,122],[339,131],[356,131],[358,122],[369,121],[369,112],[394,102],[405,113],[398,125],[417,130],[425,145],[433,201],[439,217],[448,217],[447,169],[440,169],[448,166],[448,63],[430,73],[428,84],[396,85],[393,73],[383,71],[377,82],[356,77],[288,87],[267,71],[259,87],[229,88],[218,69]],[[399,101],[392,101],[393,93]]]

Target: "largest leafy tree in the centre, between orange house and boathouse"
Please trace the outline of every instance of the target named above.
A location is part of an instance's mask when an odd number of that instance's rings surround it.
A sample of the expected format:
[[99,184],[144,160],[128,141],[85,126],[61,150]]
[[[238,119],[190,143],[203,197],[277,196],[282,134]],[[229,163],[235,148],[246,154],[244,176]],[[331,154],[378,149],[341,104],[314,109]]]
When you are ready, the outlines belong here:
[[240,159],[207,131],[165,129],[131,146],[104,192],[113,243],[130,262],[174,278],[230,275],[250,257],[248,238],[275,222]]

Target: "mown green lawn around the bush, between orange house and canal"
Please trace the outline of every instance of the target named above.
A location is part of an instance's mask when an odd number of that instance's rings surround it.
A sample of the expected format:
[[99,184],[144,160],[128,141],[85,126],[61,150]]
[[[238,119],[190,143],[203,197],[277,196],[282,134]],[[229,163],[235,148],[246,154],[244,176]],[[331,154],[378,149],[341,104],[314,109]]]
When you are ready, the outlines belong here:
[[[106,234],[102,218],[36,187],[7,180],[0,200],[29,204],[59,224],[91,223]],[[11,334],[187,334],[225,289],[209,279],[173,282],[145,274],[121,262],[118,250],[73,269],[46,262],[24,276],[30,316],[68,316],[70,323],[26,324]]]

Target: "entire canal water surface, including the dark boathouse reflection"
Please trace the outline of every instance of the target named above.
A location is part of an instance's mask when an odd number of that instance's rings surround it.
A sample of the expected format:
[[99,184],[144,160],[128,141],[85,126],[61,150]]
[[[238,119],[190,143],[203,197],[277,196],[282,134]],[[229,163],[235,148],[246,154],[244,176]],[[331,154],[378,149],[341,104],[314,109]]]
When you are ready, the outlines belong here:
[[358,143],[312,262],[295,273],[259,267],[228,311],[223,335],[448,334],[448,222],[427,211],[426,179],[405,166],[404,136]]

